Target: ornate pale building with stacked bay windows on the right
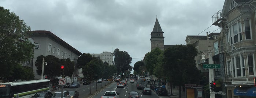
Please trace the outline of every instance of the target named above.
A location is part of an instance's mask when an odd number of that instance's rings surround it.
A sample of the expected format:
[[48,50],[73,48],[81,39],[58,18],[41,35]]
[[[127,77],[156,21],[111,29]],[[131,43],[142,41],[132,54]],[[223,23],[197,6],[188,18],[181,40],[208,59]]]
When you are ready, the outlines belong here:
[[222,28],[218,55],[223,64],[221,70],[225,70],[223,98],[256,98],[255,7],[255,0],[225,0],[222,12],[212,24]]

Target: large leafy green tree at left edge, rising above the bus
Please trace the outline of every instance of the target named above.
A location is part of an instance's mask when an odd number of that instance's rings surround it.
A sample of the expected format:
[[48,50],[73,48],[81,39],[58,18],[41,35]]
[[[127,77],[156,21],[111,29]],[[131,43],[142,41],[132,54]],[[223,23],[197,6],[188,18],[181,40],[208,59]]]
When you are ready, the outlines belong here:
[[[14,76],[15,67],[21,68],[21,62],[33,58],[34,45],[26,38],[29,35],[26,31],[30,31],[30,27],[19,19],[19,16],[4,9],[4,7],[0,7],[0,77],[7,80],[21,79],[22,74]],[[26,73],[23,71],[30,70],[22,70],[22,73]],[[33,75],[24,77],[27,79],[34,78],[30,76]],[[12,80],[9,81],[12,82]]]

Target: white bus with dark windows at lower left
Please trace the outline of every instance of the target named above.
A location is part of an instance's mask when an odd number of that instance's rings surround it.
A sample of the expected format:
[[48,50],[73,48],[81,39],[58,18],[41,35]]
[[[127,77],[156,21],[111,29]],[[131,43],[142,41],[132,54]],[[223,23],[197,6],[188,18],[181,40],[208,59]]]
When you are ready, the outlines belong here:
[[41,91],[51,91],[50,80],[0,83],[0,98],[31,98]]

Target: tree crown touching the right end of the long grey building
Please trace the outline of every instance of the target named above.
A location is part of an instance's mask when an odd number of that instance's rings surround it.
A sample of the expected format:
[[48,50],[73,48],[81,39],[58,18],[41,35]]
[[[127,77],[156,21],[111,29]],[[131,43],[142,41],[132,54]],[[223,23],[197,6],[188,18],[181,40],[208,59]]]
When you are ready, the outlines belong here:
[[83,66],[85,66],[87,63],[89,63],[90,62],[90,60],[92,60],[93,59],[93,57],[92,57],[92,55],[91,54],[89,54],[89,53],[83,53],[83,54],[81,54],[79,57],[78,57],[78,59],[77,59],[77,67],[78,68],[83,68]]

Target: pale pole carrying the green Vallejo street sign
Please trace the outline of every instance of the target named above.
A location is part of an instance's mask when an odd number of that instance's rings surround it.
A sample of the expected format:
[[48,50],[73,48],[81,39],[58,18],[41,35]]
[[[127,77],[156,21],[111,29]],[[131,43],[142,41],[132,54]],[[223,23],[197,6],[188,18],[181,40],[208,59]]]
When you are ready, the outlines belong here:
[[[208,64],[213,64],[211,46],[208,46],[208,53],[209,53]],[[210,68],[209,69],[209,83],[212,83],[212,81],[214,81],[214,69]],[[215,98],[215,92],[211,90],[211,85],[209,85],[209,91],[210,91],[210,98]]]

